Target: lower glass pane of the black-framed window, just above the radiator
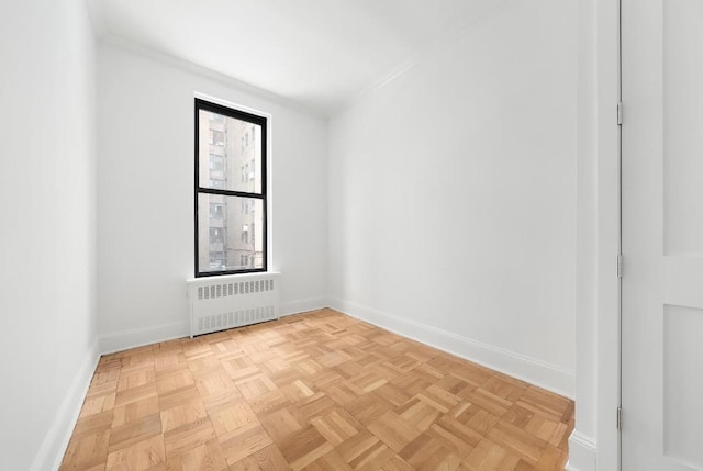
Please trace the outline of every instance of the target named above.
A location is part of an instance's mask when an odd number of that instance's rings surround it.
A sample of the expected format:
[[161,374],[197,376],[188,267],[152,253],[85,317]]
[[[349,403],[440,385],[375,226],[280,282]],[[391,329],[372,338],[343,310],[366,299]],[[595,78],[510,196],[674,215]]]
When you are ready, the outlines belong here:
[[263,227],[263,200],[200,193],[198,271],[264,268]]

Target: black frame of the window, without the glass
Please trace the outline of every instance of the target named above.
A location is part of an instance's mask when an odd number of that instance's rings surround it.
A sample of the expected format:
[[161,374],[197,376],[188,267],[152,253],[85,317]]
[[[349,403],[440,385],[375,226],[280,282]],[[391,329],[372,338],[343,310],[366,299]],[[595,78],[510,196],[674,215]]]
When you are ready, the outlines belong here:
[[[200,186],[200,111],[208,111],[211,113],[221,114],[223,116],[228,116],[239,121],[246,121],[248,123],[260,126],[260,146],[261,146],[261,191],[260,193],[255,192],[246,192],[246,191],[234,191],[227,189],[219,189],[211,187],[201,187]],[[267,204],[267,194],[268,194],[268,184],[267,184],[267,164],[268,164],[268,149],[267,149],[267,135],[268,135],[268,119],[266,116],[260,116],[257,114],[247,113],[242,110],[237,110],[234,108],[225,106],[219,103],[213,103],[211,101],[202,100],[200,98],[196,98],[194,104],[194,143],[196,143],[196,167],[194,167],[194,265],[193,271],[196,278],[204,278],[204,277],[221,277],[226,274],[238,274],[238,273],[258,273],[268,271],[268,204]],[[208,157],[210,158],[210,157]],[[264,209],[263,214],[263,267],[261,268],[244,268],[238,270],[217,270],[217,271],[200,271],[198,267],[198,254],[200,244],[198,240],[198,195],[199,194],[222,194],[225,197],[239,197],[239,198],[253,198],[257,200],[261,200],[261,205]],[[209,267],[208,267],[209,269]]]

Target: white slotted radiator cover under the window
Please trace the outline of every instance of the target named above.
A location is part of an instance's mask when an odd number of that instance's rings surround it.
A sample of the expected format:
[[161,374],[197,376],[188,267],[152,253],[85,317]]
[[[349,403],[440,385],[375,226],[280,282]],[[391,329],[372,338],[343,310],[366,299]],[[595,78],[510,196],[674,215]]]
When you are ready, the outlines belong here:
[[191,278],[190,336],[279,317],[277,272]]

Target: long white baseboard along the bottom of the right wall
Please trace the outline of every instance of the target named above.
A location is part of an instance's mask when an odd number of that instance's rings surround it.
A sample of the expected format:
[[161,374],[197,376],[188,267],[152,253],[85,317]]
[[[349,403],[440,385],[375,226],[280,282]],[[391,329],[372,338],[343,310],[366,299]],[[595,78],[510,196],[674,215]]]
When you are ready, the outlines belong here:
[[369,324],[573,399],[573,371],[348,301],[331,298],[328,304]]

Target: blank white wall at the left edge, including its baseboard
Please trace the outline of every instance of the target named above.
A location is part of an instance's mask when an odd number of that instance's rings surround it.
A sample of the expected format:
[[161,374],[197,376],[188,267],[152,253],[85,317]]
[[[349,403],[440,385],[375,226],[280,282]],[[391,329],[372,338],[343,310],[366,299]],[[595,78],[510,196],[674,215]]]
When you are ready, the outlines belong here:
[[57,467],[98,358],[82,2],[2,2],[0,69],[0,469],[43,471]]

